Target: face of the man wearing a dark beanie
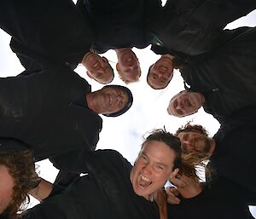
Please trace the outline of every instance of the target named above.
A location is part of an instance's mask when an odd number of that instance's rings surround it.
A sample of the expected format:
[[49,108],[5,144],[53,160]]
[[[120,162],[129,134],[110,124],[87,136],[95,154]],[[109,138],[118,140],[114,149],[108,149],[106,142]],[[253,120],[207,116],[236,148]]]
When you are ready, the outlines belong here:
[[127,102],[128,95],[123,89],[107,87],[93,93],[93,105],[98,113],[118,112]]

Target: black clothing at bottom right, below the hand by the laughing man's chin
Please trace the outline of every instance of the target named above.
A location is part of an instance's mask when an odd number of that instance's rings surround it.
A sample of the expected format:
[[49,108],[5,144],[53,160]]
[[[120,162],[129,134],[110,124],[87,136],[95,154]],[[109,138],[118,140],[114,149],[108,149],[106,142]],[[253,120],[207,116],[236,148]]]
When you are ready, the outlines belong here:
[[253,219],[239,187],[224,179],[205,185],[191,199],[167,205],[169,219]]

